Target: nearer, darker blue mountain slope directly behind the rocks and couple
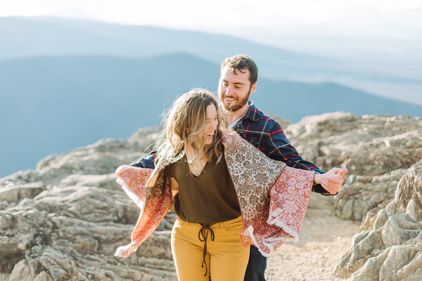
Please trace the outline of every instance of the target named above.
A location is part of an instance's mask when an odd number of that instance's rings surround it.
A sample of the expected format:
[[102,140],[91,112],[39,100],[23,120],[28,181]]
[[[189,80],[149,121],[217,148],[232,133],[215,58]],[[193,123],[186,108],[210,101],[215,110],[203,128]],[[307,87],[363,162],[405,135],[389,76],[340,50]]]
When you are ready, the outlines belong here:
[[[189,54],[142,59],[44,56],[0,61],[0,177],[101,138],[127,138],[160,123],[172,100],[193,87],[214,92],[219,65]],[[261,110],[300,118],[344,110],[421,116],[422,107],[333,83],[258,79]]]

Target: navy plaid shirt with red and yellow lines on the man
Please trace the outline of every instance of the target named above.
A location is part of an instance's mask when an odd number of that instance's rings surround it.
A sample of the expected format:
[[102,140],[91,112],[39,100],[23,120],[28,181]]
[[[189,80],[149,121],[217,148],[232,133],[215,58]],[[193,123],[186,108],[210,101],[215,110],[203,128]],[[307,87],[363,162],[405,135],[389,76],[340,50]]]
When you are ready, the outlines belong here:
[[[258,110],[252,101],[249,101],[248,112],[233,126],[233,130],[273,160],[282,161],[292,168],[312,170],[320,174],[325,173],[319,170],[315,164],[300,157],[296,149],[290,144],[280,124]],[[153,169],[154,159],[155,154],[150,153],[138,162],[130,164],[130,166]],[[331,195],[320,184],[314,185],[312,191],[322,195]]]

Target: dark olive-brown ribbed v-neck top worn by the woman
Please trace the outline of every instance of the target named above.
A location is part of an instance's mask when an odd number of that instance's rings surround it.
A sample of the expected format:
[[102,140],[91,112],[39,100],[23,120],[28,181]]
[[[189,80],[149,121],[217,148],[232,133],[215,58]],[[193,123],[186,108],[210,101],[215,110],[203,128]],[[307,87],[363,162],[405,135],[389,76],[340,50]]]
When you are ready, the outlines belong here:
[[197,177],[190,171],[186,156],[167,165],[164,174],[173,177],[179,184],[174,209],[180,219],[213,225],[241,216],[224,155],[219,163],[215,158],[207,162]]

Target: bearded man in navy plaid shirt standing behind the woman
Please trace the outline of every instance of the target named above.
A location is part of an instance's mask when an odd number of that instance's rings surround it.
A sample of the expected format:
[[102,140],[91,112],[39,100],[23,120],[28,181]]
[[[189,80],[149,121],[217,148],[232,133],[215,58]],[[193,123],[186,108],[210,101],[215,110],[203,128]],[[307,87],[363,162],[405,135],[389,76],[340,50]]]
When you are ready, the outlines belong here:
[[[257,78],[258,68],[249,56],[232,56],[222,63],[218,97],[229,127],[273,160],[283,161],[293,168],[325,173],[300,157],[290,145],[279,123],[249,101],[249,95],[256,90]],[[131,166],[154,168],[154,158],[154,153],[151,153]],[[346,172],[346,169],[331,169],[325,177],[322,177],[321,182],[314,182],[312,191],[323,195],[335,195],[343,183]],[[244,280],[265,281],[266,266],[267,258],[262,256],[257,247],[251,246]]]

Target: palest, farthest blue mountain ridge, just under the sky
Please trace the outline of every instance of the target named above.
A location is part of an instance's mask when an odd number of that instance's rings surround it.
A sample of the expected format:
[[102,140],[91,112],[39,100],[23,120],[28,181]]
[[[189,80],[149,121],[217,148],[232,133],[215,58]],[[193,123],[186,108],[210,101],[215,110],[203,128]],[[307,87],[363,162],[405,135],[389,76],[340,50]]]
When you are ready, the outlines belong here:
[[[260,75],[272,79],[360,81],[405,78],[352,70],[344,62],[298,54],[235,37],[53,17],[1,17],[0,59],[43,55],[145,57],[183,52],[216,64],[234,54],[248,54]],[[420,83],[420,81],[417,81]]]

